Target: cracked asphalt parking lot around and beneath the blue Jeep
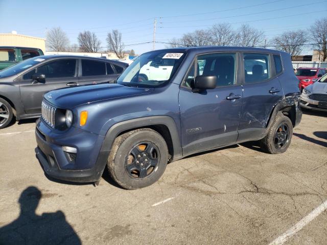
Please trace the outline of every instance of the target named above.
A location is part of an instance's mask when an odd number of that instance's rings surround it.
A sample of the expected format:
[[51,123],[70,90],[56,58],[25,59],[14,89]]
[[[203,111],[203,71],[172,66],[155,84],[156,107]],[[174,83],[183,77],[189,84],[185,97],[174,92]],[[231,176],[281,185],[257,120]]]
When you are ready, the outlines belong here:
[[234,145],[173,162],[132,191],[106,173],[98,187],[47,179],[34,127],[0,131],[4,244],[327,244],[327,211],[306,219],[327,200],[327,113],[305,112],[284,154]]

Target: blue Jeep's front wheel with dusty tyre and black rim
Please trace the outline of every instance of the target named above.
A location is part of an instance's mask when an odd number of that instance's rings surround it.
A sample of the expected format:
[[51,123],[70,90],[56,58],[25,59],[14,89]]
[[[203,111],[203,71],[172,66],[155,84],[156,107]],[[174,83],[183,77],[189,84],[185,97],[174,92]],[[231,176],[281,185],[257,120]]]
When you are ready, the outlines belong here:
[[107,165],[116,183],[125,189],[138,189],[156,182],[167,162],[165,139],[152,129],[137,129],[115,139]]

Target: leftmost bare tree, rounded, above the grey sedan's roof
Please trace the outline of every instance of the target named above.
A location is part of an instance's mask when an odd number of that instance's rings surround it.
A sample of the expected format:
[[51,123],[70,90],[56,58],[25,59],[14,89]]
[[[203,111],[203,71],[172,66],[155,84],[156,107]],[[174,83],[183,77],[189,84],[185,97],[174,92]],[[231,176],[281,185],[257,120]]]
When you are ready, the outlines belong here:
[[46,32],[46,47],[51,51],[64,52],[69,46],[69,39],[60,27],[51,28]]

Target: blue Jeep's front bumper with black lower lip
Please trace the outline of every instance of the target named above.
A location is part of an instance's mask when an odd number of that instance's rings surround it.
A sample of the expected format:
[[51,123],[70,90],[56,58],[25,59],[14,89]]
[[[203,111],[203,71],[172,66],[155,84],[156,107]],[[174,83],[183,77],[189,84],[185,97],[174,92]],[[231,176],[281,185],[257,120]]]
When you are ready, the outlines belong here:
[[[44,172],[50,177],[73,182],[99,181],[109,152],[102,152],[103,136],[77,128],[55,132],[42,119],[36,122],[35,149]],[[76,158],[67,157],[62,146],[77,149]]]

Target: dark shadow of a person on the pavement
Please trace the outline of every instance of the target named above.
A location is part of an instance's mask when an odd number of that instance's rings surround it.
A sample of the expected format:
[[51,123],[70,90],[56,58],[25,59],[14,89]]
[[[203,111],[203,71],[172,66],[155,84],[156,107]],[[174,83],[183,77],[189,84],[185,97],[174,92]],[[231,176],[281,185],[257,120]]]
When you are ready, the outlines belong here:
[[62,211],[35,213],[41,197],[41,191],[34,186],[21,192],[19,217],[0,228],[0,244],[81,244]]

